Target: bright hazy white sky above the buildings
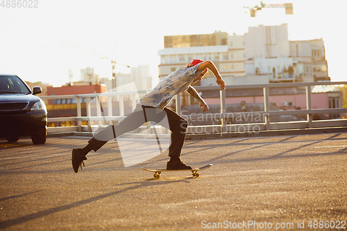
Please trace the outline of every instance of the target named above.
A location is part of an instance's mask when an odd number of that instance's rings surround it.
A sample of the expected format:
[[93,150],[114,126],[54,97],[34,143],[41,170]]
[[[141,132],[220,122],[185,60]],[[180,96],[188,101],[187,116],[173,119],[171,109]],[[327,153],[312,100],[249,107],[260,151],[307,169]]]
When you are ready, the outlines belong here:
[[[69,70],[71,80],[78,81],[86,67],[94,68],[101,78],[110,78],[111,62],[105,57],[130,67],[150,65],[155,78],[158,50],[164,49],[166,35],[214,31],[243,35],[249,26],[282,23],[288,24],[289,40],[323,38],[330,78],[346,80],[345,0],[264,0],[293,3],[294,15],[266,8],[254,18],[244,7],[260,5],[256,0],[32,1],[37,8],[0,1],[0,73],[17,74],[23,80],[64,85],[69,82]],[[117,65],[116,71],[130,69]]]

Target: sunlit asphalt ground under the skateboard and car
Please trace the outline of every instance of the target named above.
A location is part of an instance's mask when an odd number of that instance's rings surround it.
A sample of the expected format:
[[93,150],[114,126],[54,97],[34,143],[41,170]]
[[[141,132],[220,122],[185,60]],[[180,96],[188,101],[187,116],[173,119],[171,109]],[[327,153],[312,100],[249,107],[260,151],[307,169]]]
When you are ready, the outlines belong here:
[[85,144],[0,140],[0,230],[347,228],[347,133],[186,140],[185,163],[214,165],[158,180],[141,169],[166,165],[153,141],[109,142],[74,173]]

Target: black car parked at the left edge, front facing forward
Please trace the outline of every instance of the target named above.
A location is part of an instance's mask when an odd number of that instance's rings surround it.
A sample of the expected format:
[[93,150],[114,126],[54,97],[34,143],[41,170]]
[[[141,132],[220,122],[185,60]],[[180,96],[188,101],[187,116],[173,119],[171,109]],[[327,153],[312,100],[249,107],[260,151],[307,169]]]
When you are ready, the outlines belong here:
[[34,144],[46,142],[47,110],[40,94],[33,92],[18,76],[0,74],[0,137],[17,142],[19,137],[31,136]]

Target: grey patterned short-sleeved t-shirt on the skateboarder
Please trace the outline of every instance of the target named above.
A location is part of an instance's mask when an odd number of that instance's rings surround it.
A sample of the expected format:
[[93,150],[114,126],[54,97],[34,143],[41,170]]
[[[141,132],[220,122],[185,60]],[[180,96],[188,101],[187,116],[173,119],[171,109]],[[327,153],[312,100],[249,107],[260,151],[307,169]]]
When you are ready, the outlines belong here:
[[196,71],[199,65],[200,63],[193,67],[178,69],[169,74],[151,92],[139,99],[137,104],[163,109],[176,94],[188,89],[196,76],[201,74],[202,71]]

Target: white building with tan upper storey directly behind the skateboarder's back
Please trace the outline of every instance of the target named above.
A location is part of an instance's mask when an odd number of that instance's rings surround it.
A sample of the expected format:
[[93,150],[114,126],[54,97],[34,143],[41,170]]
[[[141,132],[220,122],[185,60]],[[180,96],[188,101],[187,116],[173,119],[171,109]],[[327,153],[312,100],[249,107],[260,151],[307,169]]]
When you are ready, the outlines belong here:
[[[212,60],[226,84],[237,84],[235,78],[244,78],[244,36],[215,31],[205,35],[174,35],[164,37],[160,55],[159,78],[186,67],[194,59]],[[236,81],[237,82],[237,81]],[[215,85],[208,73],[198,85]]]

